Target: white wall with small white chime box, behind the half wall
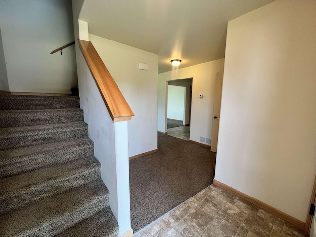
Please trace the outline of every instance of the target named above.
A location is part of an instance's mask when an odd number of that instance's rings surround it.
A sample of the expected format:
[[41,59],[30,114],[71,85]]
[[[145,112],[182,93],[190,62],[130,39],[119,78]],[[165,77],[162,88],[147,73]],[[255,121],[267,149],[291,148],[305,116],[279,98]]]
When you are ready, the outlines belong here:
[[[129,121],[129,156],[157,149],[158,55],[89,34],[135,116]],[[146,63],[148,71],[139,70]]]

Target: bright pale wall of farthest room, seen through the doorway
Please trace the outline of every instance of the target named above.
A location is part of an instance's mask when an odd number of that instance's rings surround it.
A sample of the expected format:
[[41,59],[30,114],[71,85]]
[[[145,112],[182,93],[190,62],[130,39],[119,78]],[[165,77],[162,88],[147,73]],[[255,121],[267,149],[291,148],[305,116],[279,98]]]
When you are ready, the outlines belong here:
[[168,115],[167,118],[184,120],[186,87],[168,85]]

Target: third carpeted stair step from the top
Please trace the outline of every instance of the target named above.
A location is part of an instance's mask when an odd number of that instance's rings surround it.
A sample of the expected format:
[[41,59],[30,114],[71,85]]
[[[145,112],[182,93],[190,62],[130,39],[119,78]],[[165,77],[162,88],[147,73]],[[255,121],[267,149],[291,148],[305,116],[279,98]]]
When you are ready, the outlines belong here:
[[0,151],[88,137],[83,122],[0,128]]

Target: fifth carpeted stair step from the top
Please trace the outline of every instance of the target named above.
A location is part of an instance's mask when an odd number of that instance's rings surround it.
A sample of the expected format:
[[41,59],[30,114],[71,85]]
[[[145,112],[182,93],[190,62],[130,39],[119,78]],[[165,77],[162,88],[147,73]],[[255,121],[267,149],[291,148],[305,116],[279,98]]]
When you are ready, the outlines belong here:
[[0,180],[0,213],[100,178],[100,163],[87,157]]

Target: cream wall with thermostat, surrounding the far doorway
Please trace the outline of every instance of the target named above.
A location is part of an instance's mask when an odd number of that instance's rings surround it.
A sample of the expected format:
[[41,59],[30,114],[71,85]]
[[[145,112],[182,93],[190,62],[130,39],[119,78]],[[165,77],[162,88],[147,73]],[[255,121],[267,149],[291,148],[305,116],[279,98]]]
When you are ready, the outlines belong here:
[[[193,78],[190,140],[200,142],[200,136],[211,138],[216,73],[223,72],[223,68],[224,59],[219,59],[158,74],[158,131],[167,131],[166,81]],[[204,98],[199,98],[199,94]]]

